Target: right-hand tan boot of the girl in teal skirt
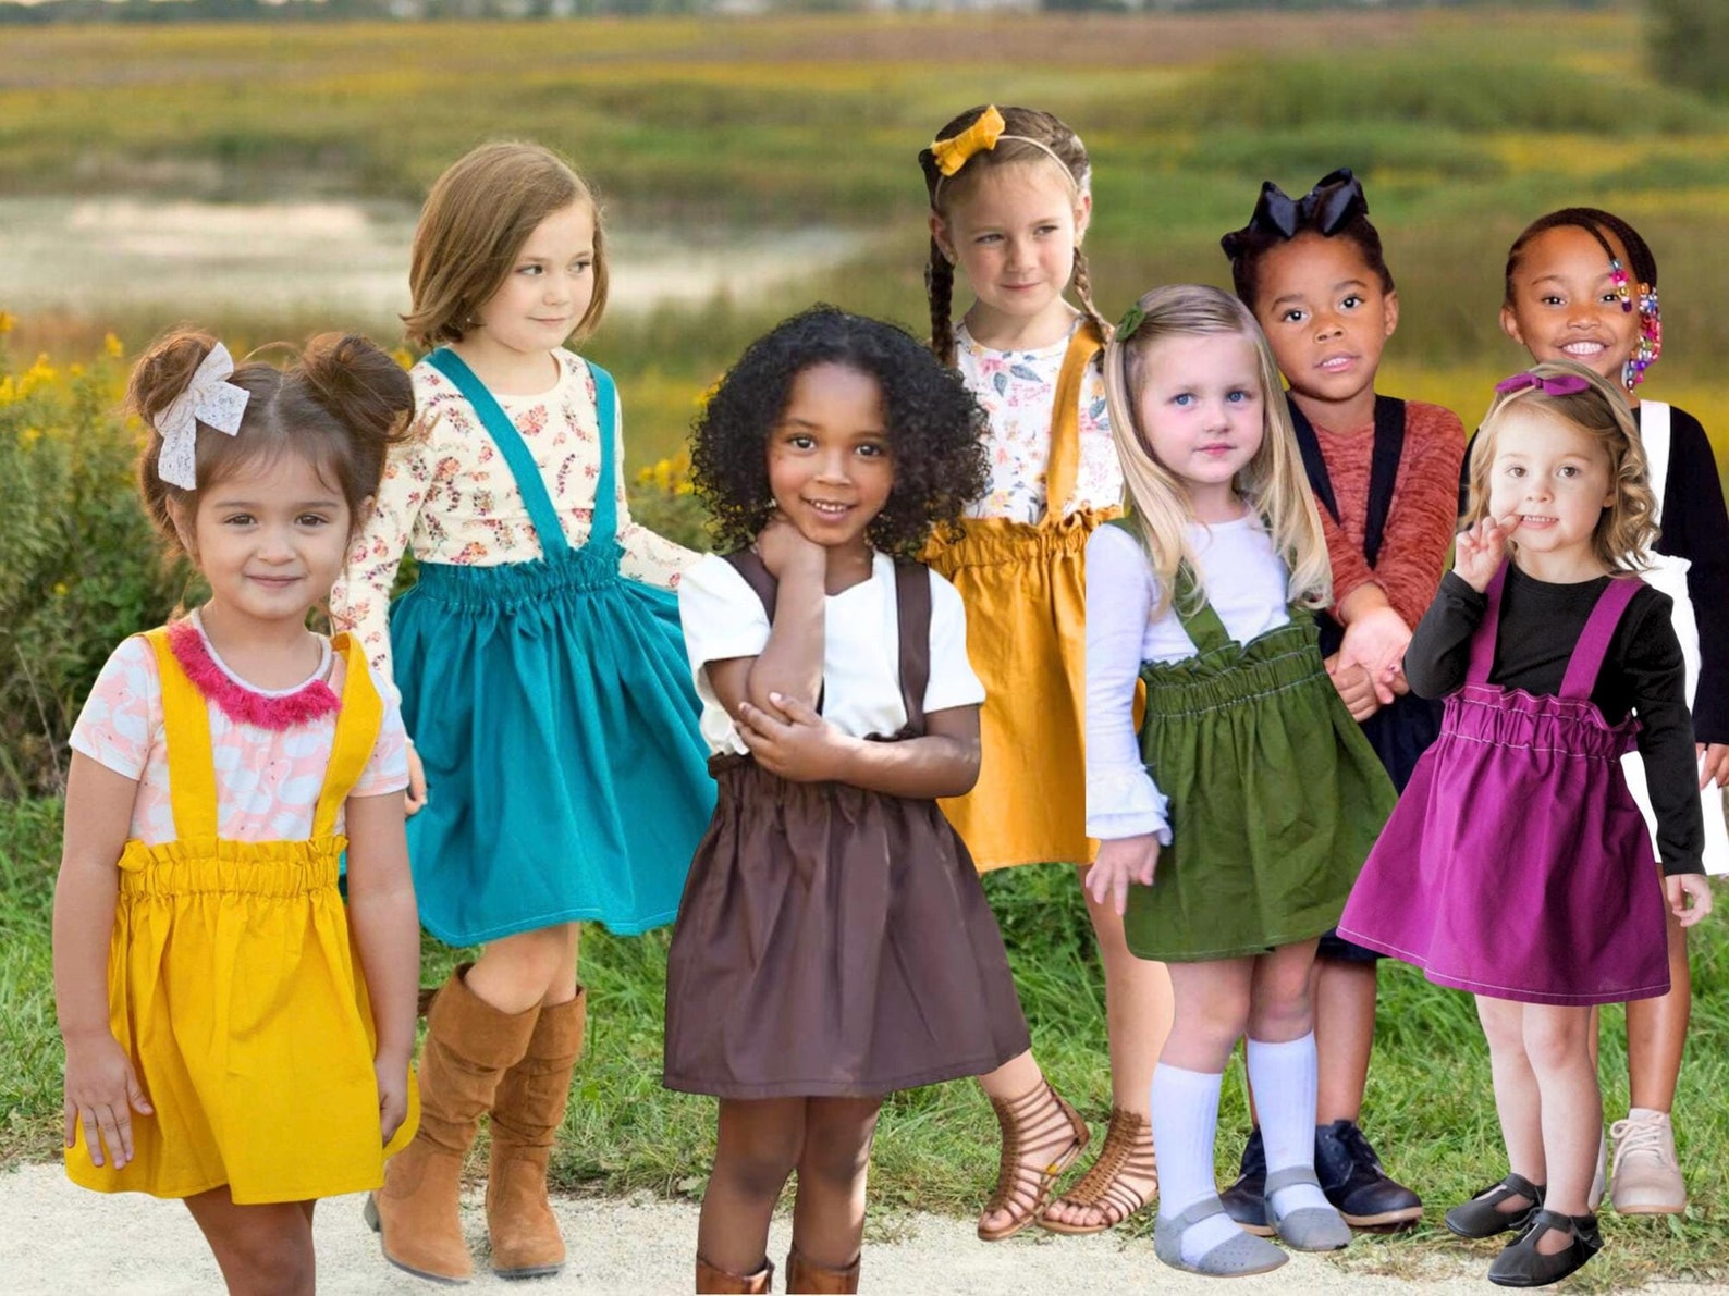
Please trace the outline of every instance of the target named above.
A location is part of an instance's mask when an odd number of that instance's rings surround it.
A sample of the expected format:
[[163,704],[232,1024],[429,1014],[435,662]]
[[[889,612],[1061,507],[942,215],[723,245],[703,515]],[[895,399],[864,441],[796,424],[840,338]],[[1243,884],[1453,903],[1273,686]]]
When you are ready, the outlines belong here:
[[493,1272],[538,1279],[564,1268],[564,1237],[546,1203],[546,1159],[564,1121],[571,1071],[583,1056],[588,994],[543,1007],[522,1061],[493,1097],[493,1156],[486,1178],[486,1232]]

